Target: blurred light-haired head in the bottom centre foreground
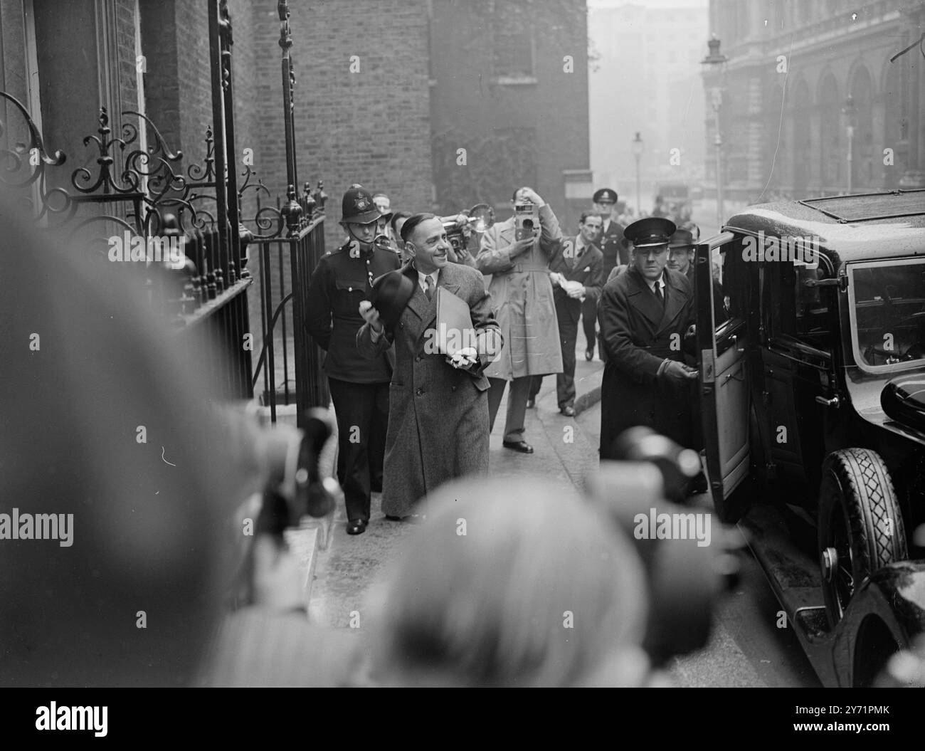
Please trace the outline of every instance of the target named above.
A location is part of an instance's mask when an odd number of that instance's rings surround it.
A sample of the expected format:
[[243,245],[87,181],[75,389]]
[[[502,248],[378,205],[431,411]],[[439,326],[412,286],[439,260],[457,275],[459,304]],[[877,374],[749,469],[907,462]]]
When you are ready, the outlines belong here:
[[571,486],[453,482],[414,533],[378,595],[376,683],[645,682],[642,563]]

